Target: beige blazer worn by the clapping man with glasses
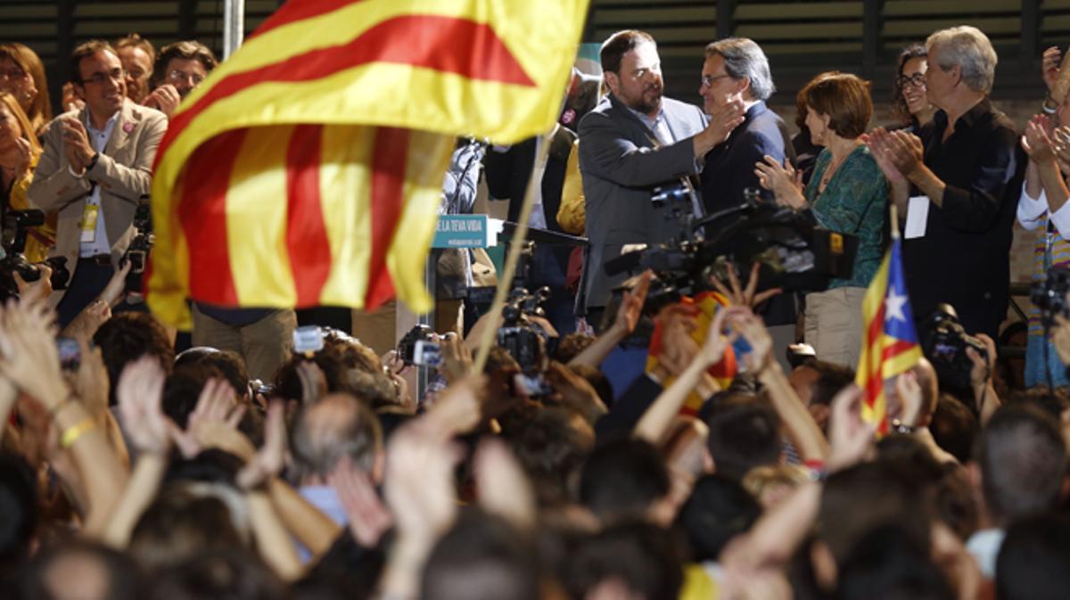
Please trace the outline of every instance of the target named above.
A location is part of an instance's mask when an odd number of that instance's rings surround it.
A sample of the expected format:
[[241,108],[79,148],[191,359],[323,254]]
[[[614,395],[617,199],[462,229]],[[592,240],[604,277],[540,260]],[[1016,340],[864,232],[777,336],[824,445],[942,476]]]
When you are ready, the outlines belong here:
[[[86,109],[77,116],[86,123]],[[149,194],[152,161],[165,132],[167,118],[163,112],[125,101],[96,165],[79,179],[71,174],[59,118],[45,128],[42,135],[44,153],[27,197],[31,204],[46,213],[59,212],[56,247],[50,256],[66,257],[72,277],[78,265],[79,222],[86,198],[92,191],[91,182],[101,186],[101,210],[111,245],[111,263],[118,265],[133,237],[131,225],[138,199]],[[57,291],[50,299],[59,303],[62,296],[63,292]]]

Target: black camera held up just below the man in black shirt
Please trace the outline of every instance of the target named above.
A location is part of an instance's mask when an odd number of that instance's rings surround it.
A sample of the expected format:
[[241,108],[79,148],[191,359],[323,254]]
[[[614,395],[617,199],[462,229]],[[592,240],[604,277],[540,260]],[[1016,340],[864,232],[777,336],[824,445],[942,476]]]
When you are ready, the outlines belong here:
[[948,304],[936,305],[922,332],[921,350],[933,364],[936,379],[945,386],[968,389],[974,361],[966,355],[966,349],[973,348],[981,358],[987,358],[984,342],[966,333],[959,323],[959,314]]

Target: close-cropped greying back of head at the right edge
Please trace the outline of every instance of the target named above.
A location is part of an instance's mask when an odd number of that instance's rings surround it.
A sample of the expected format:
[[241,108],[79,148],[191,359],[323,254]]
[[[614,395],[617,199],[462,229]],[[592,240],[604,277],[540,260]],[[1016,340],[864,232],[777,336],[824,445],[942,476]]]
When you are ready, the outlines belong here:
[[999,407],[977,445],[981,491],[997,525],[1052,508],[1067,474],[1067,447],[1058,424],[1025,403]]

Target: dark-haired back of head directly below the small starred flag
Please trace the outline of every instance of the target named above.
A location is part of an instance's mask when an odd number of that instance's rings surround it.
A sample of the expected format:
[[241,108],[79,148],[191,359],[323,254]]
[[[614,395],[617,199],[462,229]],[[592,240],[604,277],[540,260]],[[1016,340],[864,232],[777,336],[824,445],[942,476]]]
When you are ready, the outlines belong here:
[[882,462],[861,463],[830,475],[817,514],[819,538],[842,565],[872,529],[898,525],[918,545],[928,544],[932,509],[913,478]]

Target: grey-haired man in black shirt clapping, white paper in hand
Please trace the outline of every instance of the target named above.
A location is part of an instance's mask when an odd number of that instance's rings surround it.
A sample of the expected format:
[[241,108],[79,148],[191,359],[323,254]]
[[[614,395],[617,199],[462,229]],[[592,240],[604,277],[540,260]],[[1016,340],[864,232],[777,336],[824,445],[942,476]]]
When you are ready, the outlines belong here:
[[956,27],[930,35],[926,48],[929,101],[939,108],[922,130],[926,144],[883,129],[869,143],[906,217],[903,266],[915,317],[948,303],[967,332],[996,337],[1025,160],[1013,123],[988,98],[996,65],[988,37]]

